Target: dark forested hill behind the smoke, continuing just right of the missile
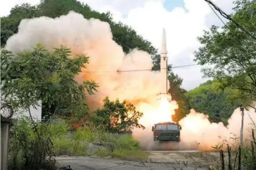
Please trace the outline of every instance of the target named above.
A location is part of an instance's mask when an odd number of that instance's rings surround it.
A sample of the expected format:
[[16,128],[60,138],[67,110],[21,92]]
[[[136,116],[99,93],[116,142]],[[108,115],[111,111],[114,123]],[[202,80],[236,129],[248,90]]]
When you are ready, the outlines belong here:
[[[22,19],[40,16],[56,18],[60,15],[68,14],[68,12],[71,10],[82,14],[86,19],[97,18],[108,22],[112,29],[113,40],[122,46],[124,52],[128,53],[130,49],[133,48],[146,51],[150,53],[153,59],[154,67],[152,67],[152,70],[157,71],[160,69],[160,55],[158,55],[157,49],[153,47],[150,42],[144,40],[142,36],[137,35],[137,33],[131,27],[128,27],[120,22],[115,23],[110,13],[98,13],[97,11],[90,9],[88,5],[80,3],[76,0],[44,0],[40,1],[39,5],[37,6],[31,6],[24,3],[20,6],[13,7],[13,9],[10,11],[10,15],[1,17],[1,46],[4,47],[7,39],[18,32],[18,26]],[[168,79],[170,80],[171,85],[171,89],[169,91],[172,94],[172,97],[179,101],[180,109],[176,110],[175,114],[176,121],[179,121],[180,118],[184,117],[187,107],[185,106],[185,103],[182,102],[183,98],[177,98],[176,96],[184,97],[183,93],[185,90],[180,88],[182,79],[172,72],[171,65],[168,65],[168,71]],[[58,103],[53,102],[51,107],[43,107],[42,115],[51,115],[55,111],[57,105]],[[47,103],[44,103],[43,106],[47,106]],[[80,108],[82,107],[87,106],[80,106]],[[88,108],[85,110],[88,110]],[[61,111],[68,112],[67,110]],[[86,111],[81,113],[81,115],[84,114],[86,114]]]

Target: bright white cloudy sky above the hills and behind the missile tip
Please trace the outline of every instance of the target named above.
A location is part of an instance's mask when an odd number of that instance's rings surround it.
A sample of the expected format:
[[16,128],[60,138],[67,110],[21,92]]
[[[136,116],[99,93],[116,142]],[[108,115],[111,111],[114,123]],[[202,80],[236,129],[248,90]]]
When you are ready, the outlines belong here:
[[[204,0],[79,0],[92,9],[113,14],[115,21],[121,21],[132,28],[154,47],[160,49],[162,30],[166,29],[168,64],[175,66],[196,64],[193,52],[200,47],[197,37],[203,35],[213,24],[222,26]],[[15,5],[39,0],[1,1],[0,15],[6,16]],[[225,13],[232,13],[233,0],[213,0]],[[226,21],[223,19],[224,22]],[[201,66],[173,68],[183,78],[183,88],[190,90],[207,81],[202,78]]]

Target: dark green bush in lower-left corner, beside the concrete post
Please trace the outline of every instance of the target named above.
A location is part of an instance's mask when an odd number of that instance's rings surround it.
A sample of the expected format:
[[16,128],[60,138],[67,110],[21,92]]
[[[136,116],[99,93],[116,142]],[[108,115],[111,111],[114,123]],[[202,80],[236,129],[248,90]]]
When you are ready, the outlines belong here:
[[54,160],[49,157],[52,144],[46,127],[40,123],[34,124],[38,134],[27,117],[21,118],[11,127],[9,169],[56,169]]

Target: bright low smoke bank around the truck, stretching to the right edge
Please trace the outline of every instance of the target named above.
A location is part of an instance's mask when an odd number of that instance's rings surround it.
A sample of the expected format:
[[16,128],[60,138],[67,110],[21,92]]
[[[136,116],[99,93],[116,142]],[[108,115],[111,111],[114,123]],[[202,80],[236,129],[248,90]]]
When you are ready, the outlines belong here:
[[[150,107],[147,107],[150,108]],[[152,108],[151,108],[152,110]],[[241,111],[234,110],[232,116],[228,120],[228,126],[220,123],[210,123],[208,115],[197,113],[191,110],[190,113],[180,120],[182,127],[180,132],[180,143],[158,143],[153,141],[153,132],[151,127],[154,124],[154,117],[160,116],[147,111],[141,119],[141,123],[146,123],[146,131],[135,130],[134,137],[139,139],[144,150],[215,150],[216,145],[226,149],[226,144],[237,147],[240,142],[241,130]],[[245,110],[243,122],[243,142],[244,145],[250,144],[252,140],[251,130],[256,130],[256,113],[254,109]]]

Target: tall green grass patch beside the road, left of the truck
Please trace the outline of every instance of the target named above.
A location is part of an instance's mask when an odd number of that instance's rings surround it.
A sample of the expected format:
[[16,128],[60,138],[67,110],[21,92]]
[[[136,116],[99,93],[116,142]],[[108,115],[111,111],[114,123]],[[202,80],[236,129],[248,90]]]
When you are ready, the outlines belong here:
[[[129,134],[111,134],[105,131],[90,131],[88,129],[77,130],[68,134],[68,130],[62,123],[61,134],[52,133],[53,151],[57,156],[88,156],[115,157],[120,159],[147,159],[148,153],[141,150],[139,142]],[[50,128],[51,131],[51,128]],[[95,147],[94,151],[86,149],[88,145]],[[94,146],[92,146],[94,144]],[[97,147],[101,146],[97,149]]]

